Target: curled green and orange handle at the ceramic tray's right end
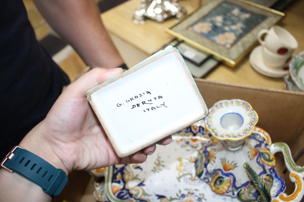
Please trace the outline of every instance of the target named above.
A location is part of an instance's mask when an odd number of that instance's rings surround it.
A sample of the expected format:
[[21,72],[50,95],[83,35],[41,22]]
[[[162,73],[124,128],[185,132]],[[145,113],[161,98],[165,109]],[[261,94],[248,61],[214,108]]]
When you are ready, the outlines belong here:
[[276,152],[282,152],[285,160],[286,167],[290,172],[289,178],[292,182],[295,182],[295,191],[291,195],[285,193],[279,194],[272,200],[272,202],[282,202],[282,201],[301,201],[304,195],[304,167],[301,167],[292,159],[290,149],[288,145],[284,142],[276,142],[269,146],[270,152],[275,154]]

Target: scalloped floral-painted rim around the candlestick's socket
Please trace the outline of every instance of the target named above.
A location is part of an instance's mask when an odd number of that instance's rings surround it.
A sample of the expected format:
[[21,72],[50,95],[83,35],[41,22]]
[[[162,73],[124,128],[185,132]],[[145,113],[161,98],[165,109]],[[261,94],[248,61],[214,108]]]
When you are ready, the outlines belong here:
[[[223,128],[220,124],[220,118],[228,113],[239,114],[243,118],[243,124],[235,130]],[[205,127],[219,140],[239,141],[254,131],[257,121],[258,115],[247,101],[240,99],[221,100],[209,109],[209,115],[205,118]]]

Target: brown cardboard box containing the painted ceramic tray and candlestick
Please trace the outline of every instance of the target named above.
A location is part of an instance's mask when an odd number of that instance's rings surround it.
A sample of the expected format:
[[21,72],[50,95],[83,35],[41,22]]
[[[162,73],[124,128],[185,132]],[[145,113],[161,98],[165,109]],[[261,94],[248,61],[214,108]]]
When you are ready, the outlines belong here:
[[[304,151],[304,93],[241,86],[205,79],[195,79],[195,82],[208,108],[223,99],[239,98],[249,102],[259,116],[257,126],[270,134],[272,142],[287,143],[292,156],[297,158],[296,163],[304,166],[302,154]],[[282,155],[279,153],[275,156],[276,170],[281,177],[284,177],[287,185],[285,193],[290,194],[294,190],[294,184],[290,182],[288,172],[285,171]],[[78,172],[76,175],[69,176],[69,181],[73,180],[73,183],[68,184],[55,200],[95,202],[94,186],[92,179],[88,183],[89,179],[88,172]]]

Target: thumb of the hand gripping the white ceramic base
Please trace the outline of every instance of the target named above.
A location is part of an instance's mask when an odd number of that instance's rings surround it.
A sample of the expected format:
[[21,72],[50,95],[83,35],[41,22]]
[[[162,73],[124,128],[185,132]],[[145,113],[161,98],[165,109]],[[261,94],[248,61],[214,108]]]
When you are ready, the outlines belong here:
[[[76,81],[71,83],[68,87],[73,87],[73,93],[75,96],[85,96],[86,92],[95,86],[102,84],[109,79],[116,77],[123,73],[122,68],[93,68],[88,71]],[[71,87],[70,87],[71,88]]]

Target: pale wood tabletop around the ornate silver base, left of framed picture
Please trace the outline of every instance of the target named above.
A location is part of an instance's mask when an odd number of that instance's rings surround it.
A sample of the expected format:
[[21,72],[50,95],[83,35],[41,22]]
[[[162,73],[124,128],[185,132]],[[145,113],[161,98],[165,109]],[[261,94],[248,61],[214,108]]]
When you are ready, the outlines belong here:
[[[163,45],[174,39],[164,29],[174,25],[175,18],[159,23],[153,20],[146,20],[145,25],[136,25],[132,22],[133,11],[141,3],[140,0],[129,0],[125,3],[110,9],[101,15],[103,23],[108,31],[124,41],[130,43],[141,51],[152,55]],[[190,6],[190,0],[183,0],[187,13],[194,11]]]

